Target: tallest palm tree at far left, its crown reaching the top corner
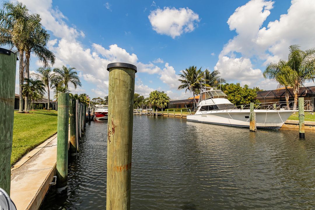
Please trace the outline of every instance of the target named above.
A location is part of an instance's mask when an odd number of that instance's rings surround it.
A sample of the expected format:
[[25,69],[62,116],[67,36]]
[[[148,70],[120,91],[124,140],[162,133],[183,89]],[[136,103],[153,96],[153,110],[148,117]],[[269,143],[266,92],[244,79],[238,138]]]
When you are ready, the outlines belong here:
[[5,2],[0,10],[0,44],[16,48],[19,53],[20,108],[23,113],[24,52],[26,42],[35,28],[39,26],[36,15],[28,14],[22,3]]

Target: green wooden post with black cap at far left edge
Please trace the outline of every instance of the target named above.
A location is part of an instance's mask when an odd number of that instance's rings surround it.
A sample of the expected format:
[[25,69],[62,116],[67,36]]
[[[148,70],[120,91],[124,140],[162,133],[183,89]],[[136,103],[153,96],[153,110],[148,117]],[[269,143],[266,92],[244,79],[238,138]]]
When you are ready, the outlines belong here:
[[10,195],[16,55],[0,48],[0,188]]

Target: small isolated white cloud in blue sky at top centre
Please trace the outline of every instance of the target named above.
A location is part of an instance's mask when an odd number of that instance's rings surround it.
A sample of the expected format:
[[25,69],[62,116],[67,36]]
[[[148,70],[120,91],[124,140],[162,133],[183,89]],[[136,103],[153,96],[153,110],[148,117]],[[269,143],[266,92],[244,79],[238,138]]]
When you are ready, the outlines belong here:
[[200,21],[199,15],[189,8],[158,8],[151,11],[148,18],[154,31],[172,38],[192,32]]

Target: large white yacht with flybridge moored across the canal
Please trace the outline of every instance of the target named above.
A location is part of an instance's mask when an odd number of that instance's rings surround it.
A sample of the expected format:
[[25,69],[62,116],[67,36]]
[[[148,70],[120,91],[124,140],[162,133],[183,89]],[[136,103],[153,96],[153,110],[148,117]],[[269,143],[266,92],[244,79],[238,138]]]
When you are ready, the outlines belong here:
[[[277,110],[272,106],[267,106],[267,108],[269,109],[254,110],[257,128],[278,130],[296,111],[285,110],[285,108]],[[239,109],[227,99],[227,95],[223,91],[211,88],[201,92],[197,112],[194,115],[187,115],[187,120],[248,128],[249,116],[249,106],[247,109]]]

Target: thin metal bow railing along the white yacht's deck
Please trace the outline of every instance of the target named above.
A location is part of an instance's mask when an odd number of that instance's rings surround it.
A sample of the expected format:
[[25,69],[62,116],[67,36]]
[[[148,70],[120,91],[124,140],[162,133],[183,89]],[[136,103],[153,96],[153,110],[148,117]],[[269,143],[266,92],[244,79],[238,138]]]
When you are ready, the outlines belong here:
[[[294,103],[296,102],[296,107],[294,108]],[[250,109],[250,104],[246,105],[233,105],[225,107],[224,109],[218,108],[211,111],[224,111],[224,110],[244,110]],[[255,103],[254,109],[260,110],[296,110],[298,111],[298,101],[279,101],[279,102],[266,102],[266,103]],[[304,100],[304,111],[313,111],[314,107],[311,105],[311,100]]]

